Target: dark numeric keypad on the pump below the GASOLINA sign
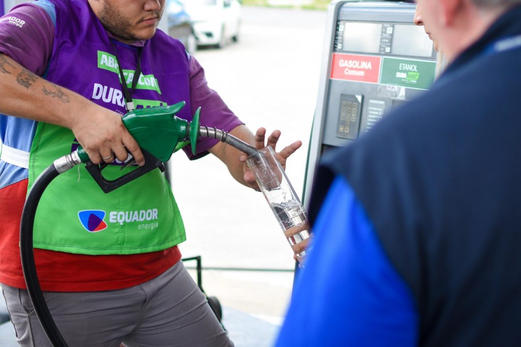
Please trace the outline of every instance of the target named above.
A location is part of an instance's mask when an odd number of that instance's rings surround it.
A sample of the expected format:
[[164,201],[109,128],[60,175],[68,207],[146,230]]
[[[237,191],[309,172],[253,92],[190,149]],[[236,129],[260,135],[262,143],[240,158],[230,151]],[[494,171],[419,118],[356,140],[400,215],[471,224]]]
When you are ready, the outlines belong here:
[[337,137],[352,140],[358,137],[361,109],[362,95],[341,94]]

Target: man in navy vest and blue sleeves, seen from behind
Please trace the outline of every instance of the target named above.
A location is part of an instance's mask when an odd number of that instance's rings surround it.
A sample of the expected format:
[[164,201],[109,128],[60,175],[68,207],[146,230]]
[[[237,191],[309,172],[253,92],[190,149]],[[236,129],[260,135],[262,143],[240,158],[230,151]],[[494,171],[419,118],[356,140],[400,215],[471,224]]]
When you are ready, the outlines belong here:
[[417,3],[451,63],[322,162],[277,346],[521,344],[521,1]]

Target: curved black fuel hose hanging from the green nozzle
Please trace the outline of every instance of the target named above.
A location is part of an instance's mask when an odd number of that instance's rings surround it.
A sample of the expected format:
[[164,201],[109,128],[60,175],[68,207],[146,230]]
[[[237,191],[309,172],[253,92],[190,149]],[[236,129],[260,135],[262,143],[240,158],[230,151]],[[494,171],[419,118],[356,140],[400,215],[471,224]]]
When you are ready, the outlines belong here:
[[38,207],[40,198],[49,183],[51,183],[51,181],[59,174],[60,172],[56,169],[54,164],[49,166],[41,173],[36,181],[34,181],[34,184],[29,191],[26,204],[23,206],[22,219],[20,223],[20,257],[22,261],[23,277],[26,279],[29,298],[31,298],[34,311],[42,324],[43,330],[54,347],[67,347],[67,343],[56,327],[53,316],[51,315],[51,312],[49,312],[49,308],[45,303],[38,275],[36,274],[36,265],[34,263],[33,253],[33,227],[36,208]]

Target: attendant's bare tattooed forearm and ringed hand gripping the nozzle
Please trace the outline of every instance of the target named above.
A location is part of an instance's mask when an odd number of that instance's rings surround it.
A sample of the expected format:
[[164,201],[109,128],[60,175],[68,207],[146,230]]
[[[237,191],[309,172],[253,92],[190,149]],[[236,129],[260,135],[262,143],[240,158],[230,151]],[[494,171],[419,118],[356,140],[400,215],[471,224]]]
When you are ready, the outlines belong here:
[[[143,164],[139,145],[121,116],[34,75],[4,54],[0,54],[0,95],[0,113],[71,129],[95,164],[113,152],[119,160],[126,160],[126,148]],[[111,156],[106,162],[113,160]]]

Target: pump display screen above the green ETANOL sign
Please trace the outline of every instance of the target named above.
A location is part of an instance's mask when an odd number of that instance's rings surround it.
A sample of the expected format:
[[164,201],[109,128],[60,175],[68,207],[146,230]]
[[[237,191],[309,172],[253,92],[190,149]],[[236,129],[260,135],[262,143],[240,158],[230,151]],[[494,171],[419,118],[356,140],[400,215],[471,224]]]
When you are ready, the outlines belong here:
[[427,58],[432,56],[432,41],[423,27],[395,24],[391,54]]

